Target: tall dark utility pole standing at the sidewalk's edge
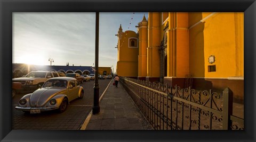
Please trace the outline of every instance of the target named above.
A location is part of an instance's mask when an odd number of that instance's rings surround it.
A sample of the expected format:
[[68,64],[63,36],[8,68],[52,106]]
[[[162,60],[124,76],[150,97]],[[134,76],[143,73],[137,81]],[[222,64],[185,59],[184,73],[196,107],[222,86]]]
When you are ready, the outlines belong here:
[[94,79],[94,96],[92,114],[100,112],[99,106],[99,12],[96,12],[96,28],[95,28],[95,79]]

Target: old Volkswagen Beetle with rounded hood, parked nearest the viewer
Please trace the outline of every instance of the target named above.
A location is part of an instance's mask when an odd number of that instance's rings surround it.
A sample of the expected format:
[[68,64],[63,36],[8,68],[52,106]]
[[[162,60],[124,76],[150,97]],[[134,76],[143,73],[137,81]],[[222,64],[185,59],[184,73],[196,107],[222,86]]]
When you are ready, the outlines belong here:
[[72,77],[54,77],[48,79],[41,88],[27,94],[19,100],[15,109],[27,113],[58,110],[64,112],[70,101],[82,99],[84,88]]

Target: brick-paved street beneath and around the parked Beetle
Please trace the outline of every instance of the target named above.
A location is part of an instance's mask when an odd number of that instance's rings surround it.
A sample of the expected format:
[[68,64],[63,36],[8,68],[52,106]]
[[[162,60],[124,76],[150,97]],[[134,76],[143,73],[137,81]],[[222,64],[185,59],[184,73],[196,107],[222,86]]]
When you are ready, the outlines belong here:
[[[109,84],[110,79],[99,79],[99,94],[101,95]],[[93,106],[93,85],[94,81],[84,82],[85,93],[83,99],[76,99],[70,102],[68,108],[63,113],[55,111],[42,112],[41,114],[25,114],[15,110],[19,99],[25,94],[18,94],[13,98],[13,120],[12,129],[37,129],[37,130],[78,130],[84,120],[92,110]]]

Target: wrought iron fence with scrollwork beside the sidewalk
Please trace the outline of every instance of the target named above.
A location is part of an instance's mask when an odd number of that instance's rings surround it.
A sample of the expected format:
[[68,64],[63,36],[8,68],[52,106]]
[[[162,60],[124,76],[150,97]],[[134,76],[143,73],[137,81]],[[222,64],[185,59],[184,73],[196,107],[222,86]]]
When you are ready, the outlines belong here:
[[232,115],[233,93],[197,91],[120,77],[120,82],[155,130],[243,130]]

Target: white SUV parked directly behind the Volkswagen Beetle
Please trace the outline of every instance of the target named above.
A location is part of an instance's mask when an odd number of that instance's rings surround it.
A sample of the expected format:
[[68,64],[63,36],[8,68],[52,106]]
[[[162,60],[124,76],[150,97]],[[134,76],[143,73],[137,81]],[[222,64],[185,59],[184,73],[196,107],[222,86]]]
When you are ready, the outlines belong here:
[[16,91],[35,91],[49,78],[63,76],[62,72],[33,71],[23,77],[13,78],[12,82],[21,83],[21,88]]

